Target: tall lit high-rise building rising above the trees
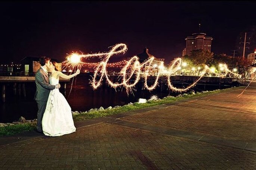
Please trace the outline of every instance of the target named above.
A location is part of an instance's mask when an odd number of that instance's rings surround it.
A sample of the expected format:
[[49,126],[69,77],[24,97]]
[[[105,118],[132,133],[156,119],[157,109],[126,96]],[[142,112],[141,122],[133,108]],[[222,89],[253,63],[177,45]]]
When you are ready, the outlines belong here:
[[190,55],[191,51],[203,49],[211,51],[212,37],[206,37],[205,33],[194,33],[192,37],[186,37],[186,48],[182,51],[182,56]]

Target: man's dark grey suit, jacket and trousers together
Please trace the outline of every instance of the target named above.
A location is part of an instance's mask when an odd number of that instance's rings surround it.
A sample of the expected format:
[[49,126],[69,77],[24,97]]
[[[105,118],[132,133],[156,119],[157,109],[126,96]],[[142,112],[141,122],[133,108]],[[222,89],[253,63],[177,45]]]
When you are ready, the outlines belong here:
[[48,74],[42,68],[37,70],[35,77],[36,77],[35,81],[36,81],[37,90],[36,90],[34,99],[37,101],[37,106],[38,106],[37,131],[42,132],[43,131],[42,129],[43,114],[46,108],[50,90],[55,89],[55,85],[49,84]]

